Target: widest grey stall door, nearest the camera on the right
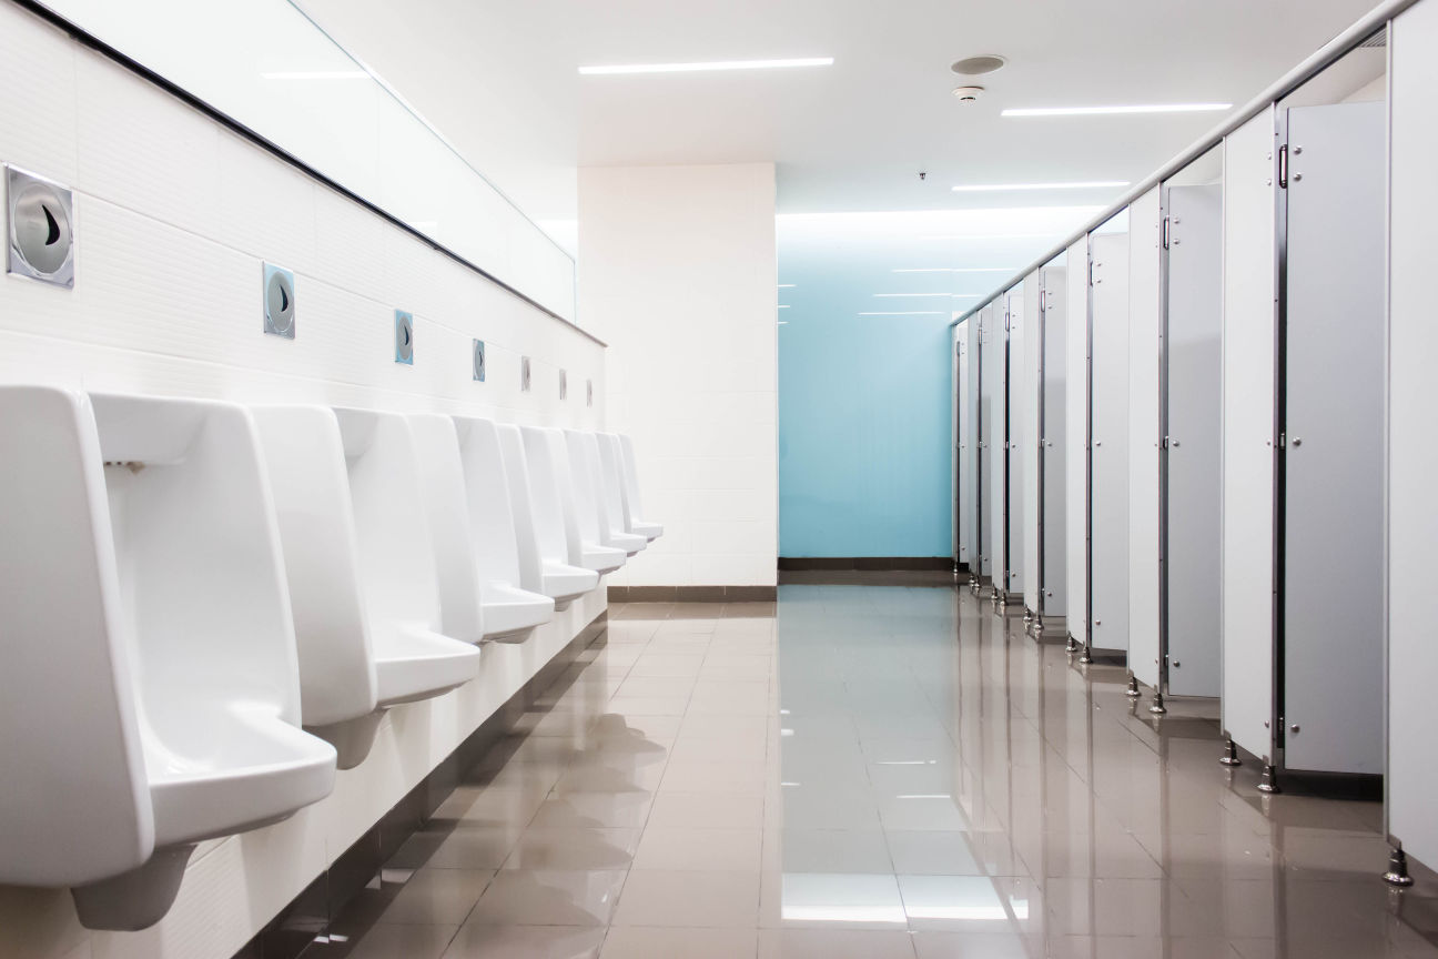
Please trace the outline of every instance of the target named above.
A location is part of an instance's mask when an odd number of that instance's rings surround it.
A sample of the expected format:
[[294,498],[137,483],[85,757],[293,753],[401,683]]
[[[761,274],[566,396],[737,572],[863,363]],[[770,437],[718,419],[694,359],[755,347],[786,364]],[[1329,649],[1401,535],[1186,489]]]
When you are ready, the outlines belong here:
[[1383,102],[1288,111],[1287,769],[1383,769],[1386,116]]

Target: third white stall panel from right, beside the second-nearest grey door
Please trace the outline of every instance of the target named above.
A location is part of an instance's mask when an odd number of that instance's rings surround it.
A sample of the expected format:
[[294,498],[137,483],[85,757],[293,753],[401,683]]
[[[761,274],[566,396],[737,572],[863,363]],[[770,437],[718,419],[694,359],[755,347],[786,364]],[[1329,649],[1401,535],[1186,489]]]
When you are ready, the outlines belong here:
[[1160,689],[1159,371],[1163,240],[1159,188],[1129,207],[1129,669]]

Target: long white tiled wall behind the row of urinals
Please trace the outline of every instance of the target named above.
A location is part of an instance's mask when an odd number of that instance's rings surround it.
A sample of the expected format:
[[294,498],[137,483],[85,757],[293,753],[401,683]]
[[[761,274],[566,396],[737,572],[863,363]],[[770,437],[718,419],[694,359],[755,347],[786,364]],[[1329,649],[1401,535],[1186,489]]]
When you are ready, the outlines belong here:
[[[0,160],[72,185],[78,236],[73,290],[0,276],[0,381],[603,424],[597,342],[7,3],[0,91]],[[265,259],[296,273],[293,341],[260,332]],[[393,362],[395,308],[416,318],[413,367]],[[151,930],[91,933],[65,890],[0,887],[0,956],[232,955],[603,611],[595,591],[529,643],[486,647],[476,682],[391,710],[328,799],[204,844]]]

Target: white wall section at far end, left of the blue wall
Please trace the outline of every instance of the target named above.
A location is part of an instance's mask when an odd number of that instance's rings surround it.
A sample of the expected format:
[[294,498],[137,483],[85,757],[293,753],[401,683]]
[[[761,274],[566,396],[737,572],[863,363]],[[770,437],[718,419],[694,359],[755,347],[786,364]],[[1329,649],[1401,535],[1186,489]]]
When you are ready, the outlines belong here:
[[772,585],[778,541],[774,165],[580,171],[580,315],[610,341],[664,538],[613,585]]

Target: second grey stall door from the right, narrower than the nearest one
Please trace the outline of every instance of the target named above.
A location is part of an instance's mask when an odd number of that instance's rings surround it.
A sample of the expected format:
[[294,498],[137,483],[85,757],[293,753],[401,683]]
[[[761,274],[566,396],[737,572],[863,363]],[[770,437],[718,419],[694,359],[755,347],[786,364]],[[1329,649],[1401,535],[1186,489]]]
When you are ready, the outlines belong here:
[[1175,696],[1218,696],[1222,201],[1219,185],[1168,188],[1163,572],[1168,689]]

